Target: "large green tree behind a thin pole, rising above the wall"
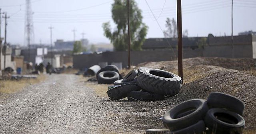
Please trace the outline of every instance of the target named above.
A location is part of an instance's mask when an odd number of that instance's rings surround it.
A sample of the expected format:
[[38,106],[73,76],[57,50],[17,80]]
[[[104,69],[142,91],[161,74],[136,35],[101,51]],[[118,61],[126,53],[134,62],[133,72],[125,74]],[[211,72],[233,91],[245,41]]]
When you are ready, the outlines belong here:
[[[116,29],[112,32],[110,22],[103,23],[104,35],[110,39],[116,51],[124,51],[128,49],[127,0],[114,0],[111,12]],[[145,41],[148,26],[142,22],[141,10],[134,0],[130,0],[129,18],[131,49],[138,51]]]

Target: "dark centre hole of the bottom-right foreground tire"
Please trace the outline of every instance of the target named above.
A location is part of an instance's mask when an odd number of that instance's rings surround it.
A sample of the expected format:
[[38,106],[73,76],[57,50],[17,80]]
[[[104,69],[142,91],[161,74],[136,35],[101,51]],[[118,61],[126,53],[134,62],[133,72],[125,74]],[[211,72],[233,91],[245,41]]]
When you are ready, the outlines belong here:
[[214,117],[222,122],[226,122],[228,124],[238,124],[237,118],[230,114],[217,112],[214,114]]

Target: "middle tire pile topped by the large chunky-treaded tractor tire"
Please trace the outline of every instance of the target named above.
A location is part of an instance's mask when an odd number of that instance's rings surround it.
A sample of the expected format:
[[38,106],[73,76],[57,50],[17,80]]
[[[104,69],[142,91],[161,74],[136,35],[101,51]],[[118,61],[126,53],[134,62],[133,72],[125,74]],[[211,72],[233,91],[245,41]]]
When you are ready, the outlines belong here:
[[124,79],[115,81],[117,87],[108,90],[107,94],[112,101],[125,97],[130,101],[155,101],[177,95],[181,84],[182,79],[174,73],[140,67],[138,71],[130,71]]

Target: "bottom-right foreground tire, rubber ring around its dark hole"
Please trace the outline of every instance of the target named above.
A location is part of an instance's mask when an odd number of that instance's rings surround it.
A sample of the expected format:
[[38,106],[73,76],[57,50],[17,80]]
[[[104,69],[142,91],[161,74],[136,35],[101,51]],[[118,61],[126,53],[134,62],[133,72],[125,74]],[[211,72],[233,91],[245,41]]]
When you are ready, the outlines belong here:
[[[237,124],[230,124],[221,120],[218,120],[214,114],[215,113],[224,113],[229,114],[238,120]],[[237,114],[236,112],[228,111],[223,108],[211,108],[206,113],[204,118],[204,122],[207,128],[209,128],[208,132],[215,132],[216,134],[230,134],[234,132],[234,134],[242,134],[242,129],[244,128],[245,121],[242,116]],[[236,133],[235,133],[236,132]],[[233,134],[233,133],[232,133]]]

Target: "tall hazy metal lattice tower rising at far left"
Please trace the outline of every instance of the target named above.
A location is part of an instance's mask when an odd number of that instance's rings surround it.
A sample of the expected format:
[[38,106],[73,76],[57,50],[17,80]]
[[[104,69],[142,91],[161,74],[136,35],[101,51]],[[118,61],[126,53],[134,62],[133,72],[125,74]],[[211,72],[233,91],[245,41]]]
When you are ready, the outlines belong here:
[[33,15],[33,12],[31,9],[31,1],[26,0],[25,38],[26,38],[26,44],[28,45],[28,62],[30,62],[30,43],[34,35],[32,15]]

